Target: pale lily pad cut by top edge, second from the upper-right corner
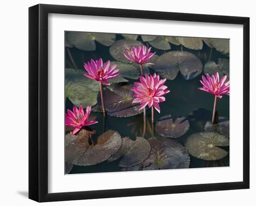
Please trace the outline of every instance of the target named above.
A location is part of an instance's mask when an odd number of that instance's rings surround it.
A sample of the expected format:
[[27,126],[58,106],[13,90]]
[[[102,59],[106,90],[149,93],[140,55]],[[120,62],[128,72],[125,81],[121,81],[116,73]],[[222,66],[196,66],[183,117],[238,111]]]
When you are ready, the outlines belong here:
[[194,50],[201,50],[203,47],[203,41],[209,46],[210,48],[213,47],[209,38],[197,38],[197,37],[177,37],[177,40],[182,44],[184,47]]

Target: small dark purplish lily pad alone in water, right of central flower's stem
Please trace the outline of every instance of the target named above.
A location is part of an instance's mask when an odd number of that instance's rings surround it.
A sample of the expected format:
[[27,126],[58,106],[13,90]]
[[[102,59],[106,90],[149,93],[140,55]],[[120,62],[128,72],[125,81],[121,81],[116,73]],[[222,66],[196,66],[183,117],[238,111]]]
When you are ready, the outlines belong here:
[[188,130],[189,121],[185,117],[178,117],[174,121],[171,115],[165,115],[155,123],[155,131],[163,137],[181,137]]

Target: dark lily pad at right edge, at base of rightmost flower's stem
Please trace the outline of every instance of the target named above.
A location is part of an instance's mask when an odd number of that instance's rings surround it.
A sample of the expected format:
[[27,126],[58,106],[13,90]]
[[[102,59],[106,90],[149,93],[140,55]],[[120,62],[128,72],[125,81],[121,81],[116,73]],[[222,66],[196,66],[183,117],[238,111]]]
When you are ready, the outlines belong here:
[[217,124],[213,125],[211,121],[206,122],[204,126],[205,132],[220,133],[229,138],[229,120],[225,117],[220,117]]

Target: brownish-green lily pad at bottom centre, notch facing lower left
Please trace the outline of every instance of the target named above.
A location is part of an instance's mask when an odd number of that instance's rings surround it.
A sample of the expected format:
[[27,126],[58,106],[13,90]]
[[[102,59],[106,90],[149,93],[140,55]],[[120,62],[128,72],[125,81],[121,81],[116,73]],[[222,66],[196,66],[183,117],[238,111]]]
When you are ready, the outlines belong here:
[[150,154],[150,144],[142,137],[131,140],[128,137],[122,138],[122,146],[108,161],[114,161],[122,157],[119,166],[130,167],[143,162]]

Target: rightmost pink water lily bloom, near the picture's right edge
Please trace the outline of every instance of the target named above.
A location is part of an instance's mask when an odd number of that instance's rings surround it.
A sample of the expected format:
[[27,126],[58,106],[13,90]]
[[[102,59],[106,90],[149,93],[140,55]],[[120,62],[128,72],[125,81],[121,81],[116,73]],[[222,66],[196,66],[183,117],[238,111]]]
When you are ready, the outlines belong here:
[[212,77],[206,74],[206,77],[207,79],[202,75],[200,82],[203,87],[198,89],[209,92],[218,98],[222,98],[223,94],[229,94],[229,81],[225,83],[227,76],[224,75],[222,79],[219,80],[219,73],[217,72],[215,75],[212,75]]

